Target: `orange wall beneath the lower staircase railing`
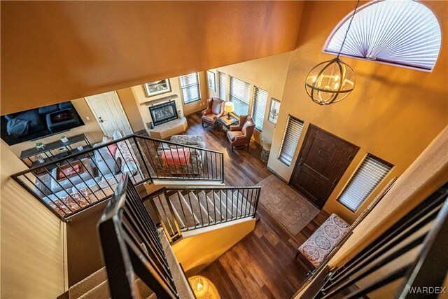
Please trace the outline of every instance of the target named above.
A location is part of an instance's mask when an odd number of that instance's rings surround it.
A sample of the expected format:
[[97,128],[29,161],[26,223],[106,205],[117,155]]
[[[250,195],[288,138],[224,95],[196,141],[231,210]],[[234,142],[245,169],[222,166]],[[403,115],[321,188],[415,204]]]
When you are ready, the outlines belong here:
[[172,248],[183,269],[195,274],[254,229],[252,218],[214,225],[184,233]]

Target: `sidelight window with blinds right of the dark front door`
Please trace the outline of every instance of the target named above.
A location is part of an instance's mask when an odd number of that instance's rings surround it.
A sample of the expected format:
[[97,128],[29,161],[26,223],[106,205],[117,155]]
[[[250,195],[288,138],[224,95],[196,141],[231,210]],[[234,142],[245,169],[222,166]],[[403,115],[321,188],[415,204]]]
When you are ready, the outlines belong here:
[[338,201],[351,211],[356,211],[392,167],[390,163],[367,154],[339,195]]

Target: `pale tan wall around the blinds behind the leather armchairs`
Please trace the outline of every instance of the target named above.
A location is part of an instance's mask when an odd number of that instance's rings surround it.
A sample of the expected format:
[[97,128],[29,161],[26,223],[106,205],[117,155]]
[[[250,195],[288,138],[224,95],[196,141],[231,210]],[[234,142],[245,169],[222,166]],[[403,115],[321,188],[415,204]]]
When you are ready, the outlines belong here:
[[[218,67],[218,69],[211,70],[215,73],[215,81],[217,81],[216,71],[222,71],[227,75],[227,77],[234,76],[235,78],[239,78],[240,80],[251,84],[249,114],[252,113],[254,86],[267,91],[267,104],[263,130],[262,132],[254,130],[253,133],[253,139],[259,144],[262,138],[265,140],[265,143],[272,143],[275,125],[273,123],[269,123],[267,120],[269,116],[269,105],[271,104],[272,97],[281,101],[286,74],[288,72],[289,60],[290,52],[264,57],[258,60],[241,62],[239,64],[232,64],[226,67]],[[207,90],[209,91],[209,97],[218,97],[217,85],[216,92],[209,90],[208,88]],[[229,92],[229,90],[227,90],[227,92]]]

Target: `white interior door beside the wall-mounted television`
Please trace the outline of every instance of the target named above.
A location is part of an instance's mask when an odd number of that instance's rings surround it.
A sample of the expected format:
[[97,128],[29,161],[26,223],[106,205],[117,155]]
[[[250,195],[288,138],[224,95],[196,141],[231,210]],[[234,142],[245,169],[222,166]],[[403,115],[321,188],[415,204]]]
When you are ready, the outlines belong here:
[[104,134],[112,136],[115,131],[120,131],[123,136],[132,134],[131,125],[116,91],[85,97],[85,102],[92,109]]

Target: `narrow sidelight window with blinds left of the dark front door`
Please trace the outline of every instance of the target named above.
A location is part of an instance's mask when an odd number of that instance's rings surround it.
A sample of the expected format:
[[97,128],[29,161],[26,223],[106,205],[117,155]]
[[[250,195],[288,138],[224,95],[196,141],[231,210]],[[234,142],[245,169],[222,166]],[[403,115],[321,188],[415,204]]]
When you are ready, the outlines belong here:
[[284,164],[290,166],[293,162],[293,156],[297,142],[299,142],[300,134],[302,133],[303,122],[293,116],[288,116],[286,122],[286,130],[281,141],[279,160]]

